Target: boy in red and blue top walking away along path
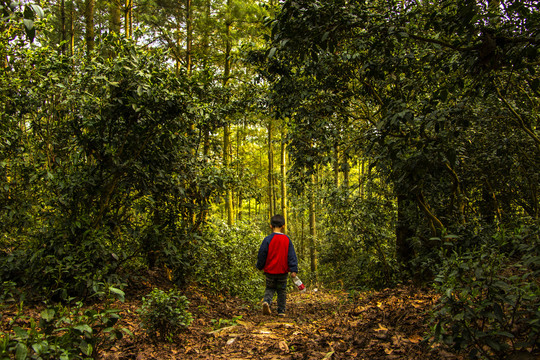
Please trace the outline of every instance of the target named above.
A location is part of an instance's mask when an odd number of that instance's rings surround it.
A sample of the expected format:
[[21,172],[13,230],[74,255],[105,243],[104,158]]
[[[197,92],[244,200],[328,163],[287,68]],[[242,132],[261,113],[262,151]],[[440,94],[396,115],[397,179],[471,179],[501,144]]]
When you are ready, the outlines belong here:
[[264,238],[257,256],[257,269],[266,275],[266,290],[264,291],[263,314],[270,315],[270,305],[274,293],[277,292],[278,316],[285,316],[287,306],[287,276],[296,277],[298,259],[291,239],[283,233],[285,218],[274,215],[270,220],[272,233]]

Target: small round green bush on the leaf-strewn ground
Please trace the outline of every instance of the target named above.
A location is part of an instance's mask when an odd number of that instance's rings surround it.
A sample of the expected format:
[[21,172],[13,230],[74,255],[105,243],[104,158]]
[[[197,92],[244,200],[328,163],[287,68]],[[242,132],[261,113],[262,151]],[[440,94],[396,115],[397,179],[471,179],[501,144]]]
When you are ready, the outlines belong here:
[[187,329],[193,321],[188,305],[187,298],[176,289],[154,289],[143,297],[141,325],[152,340],[172,341],[176,332]]

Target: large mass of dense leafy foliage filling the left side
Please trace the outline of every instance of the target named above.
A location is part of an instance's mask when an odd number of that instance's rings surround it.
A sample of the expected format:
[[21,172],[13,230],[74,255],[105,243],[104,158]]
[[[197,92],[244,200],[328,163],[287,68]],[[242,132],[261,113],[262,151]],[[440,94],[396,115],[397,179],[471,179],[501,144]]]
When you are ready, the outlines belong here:
[[181,253],[219,187],[192,156],[195,83],[159,51],[103,46],[114,61],[96,52],[75,67],[23,49],[2,78],[2,277],[50,296],[89,295],[121,282],[128,259]]

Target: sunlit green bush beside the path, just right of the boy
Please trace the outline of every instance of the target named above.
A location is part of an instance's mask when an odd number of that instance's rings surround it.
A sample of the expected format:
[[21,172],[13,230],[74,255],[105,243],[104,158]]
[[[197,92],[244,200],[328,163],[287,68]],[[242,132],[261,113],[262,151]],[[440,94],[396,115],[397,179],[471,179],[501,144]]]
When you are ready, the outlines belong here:
[[397,280],[395,207],[375,198],[329,194],[325,239],[319,246],[319,279],[329,287],[383,288]]

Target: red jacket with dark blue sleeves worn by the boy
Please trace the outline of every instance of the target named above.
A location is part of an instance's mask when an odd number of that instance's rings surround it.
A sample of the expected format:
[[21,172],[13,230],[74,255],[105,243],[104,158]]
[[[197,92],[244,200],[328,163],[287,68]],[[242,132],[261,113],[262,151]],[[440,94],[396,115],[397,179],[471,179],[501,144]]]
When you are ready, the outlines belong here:
[[282,233],[265,237],[257,255],[257,269],[268,274],[298,272],[298,258],[291,239]]

